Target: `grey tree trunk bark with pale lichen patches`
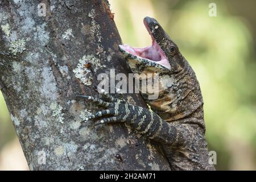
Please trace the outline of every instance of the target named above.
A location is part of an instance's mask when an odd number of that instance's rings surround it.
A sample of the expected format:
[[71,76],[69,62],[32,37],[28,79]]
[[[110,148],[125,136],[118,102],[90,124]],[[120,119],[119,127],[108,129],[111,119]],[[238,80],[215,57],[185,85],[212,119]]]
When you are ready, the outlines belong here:
[[76,95],[98,96],[97,75],[112,68],[129,73],[107,1],[0,0],[0,24],[0,87],[31,170],[170,169],[129,126],[80,128],[102,108]]

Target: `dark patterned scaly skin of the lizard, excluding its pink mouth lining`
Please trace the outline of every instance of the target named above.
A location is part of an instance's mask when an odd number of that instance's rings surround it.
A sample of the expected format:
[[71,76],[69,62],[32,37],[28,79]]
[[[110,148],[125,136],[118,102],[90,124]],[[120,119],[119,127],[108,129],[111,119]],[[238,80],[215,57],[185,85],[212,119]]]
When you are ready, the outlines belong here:
[[159,97],[150,100],[150,94],[142,93],[152,110],[128,104],[106,93],[102,100],[79,96],[106,107],[106,110],[86,120],[101,118],[98,124],[129,123],[139,133],[162,144],[172,170],[214,170],[209,164],[204,137],[203,97],[195,72],[155,19],[146,17],[144,24],[162,49],[170,67],[133,55],[123,46],[119,48],[133,73],[158,74]]

